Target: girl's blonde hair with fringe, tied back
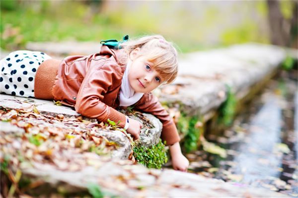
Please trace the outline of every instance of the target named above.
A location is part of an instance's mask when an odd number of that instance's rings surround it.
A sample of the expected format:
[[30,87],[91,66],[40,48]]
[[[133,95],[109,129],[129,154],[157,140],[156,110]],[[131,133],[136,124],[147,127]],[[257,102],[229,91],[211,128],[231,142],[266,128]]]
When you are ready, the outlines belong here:
[[134,49],[140,48],[140,56],[152,62],[153,68],[169,84],[178,74],[177,50],[173,44],[167,42],[160,35],[144,36],[142,38],[121,44],[121,47],[130,54]]

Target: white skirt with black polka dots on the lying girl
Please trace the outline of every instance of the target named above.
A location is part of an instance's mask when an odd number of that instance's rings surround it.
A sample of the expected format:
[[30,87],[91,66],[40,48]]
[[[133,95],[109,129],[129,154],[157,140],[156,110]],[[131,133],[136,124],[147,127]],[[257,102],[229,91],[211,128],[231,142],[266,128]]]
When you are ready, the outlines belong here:
[[40,51],[20,50],[0,60],[0,93],[34,97],[34,78],[39,65],[51,57]]

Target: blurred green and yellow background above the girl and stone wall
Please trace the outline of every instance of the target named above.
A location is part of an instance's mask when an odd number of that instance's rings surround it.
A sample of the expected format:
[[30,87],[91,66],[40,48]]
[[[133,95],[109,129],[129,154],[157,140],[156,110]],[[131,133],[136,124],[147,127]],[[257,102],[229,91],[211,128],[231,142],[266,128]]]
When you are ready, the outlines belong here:
[[[270,1],[269,1],[270,2]],[[181,52],[258,42],[297,48],[297,1],[1,0],[1,49],[27,42],[94,41],[161,34]],[[294,21],[294,22],[293,22]],[[273,39],[281,26],[284,43]],[[291,25],[292,24],[292,25]]]

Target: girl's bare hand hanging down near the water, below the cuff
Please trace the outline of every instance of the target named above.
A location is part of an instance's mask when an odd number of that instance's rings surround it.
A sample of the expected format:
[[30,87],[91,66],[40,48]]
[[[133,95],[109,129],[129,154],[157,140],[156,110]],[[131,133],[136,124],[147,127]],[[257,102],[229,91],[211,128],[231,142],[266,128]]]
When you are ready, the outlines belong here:
[[189,166],[188,159],[182,154],[179,143],[170,146],[170,153],[172,157],[172,165],[175,170],[187,172]]

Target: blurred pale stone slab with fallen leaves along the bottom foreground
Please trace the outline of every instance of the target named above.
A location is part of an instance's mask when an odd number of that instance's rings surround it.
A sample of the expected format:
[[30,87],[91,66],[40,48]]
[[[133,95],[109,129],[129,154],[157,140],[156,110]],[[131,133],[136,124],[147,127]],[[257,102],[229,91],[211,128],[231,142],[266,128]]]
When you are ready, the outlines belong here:
[[34,189],[38,195],[45,195],[44,189],[58,188],[66,193],[86,193],[92,183],[104,192],[120,197],[287,197],[266,189],[239,186],[191,173],[147,169],[130,161],[109,161],[100,157],[96,160],[96,168],[89,166],[79,172],[61,171],[41,164],[22,171],[26,177],[46,181]]

